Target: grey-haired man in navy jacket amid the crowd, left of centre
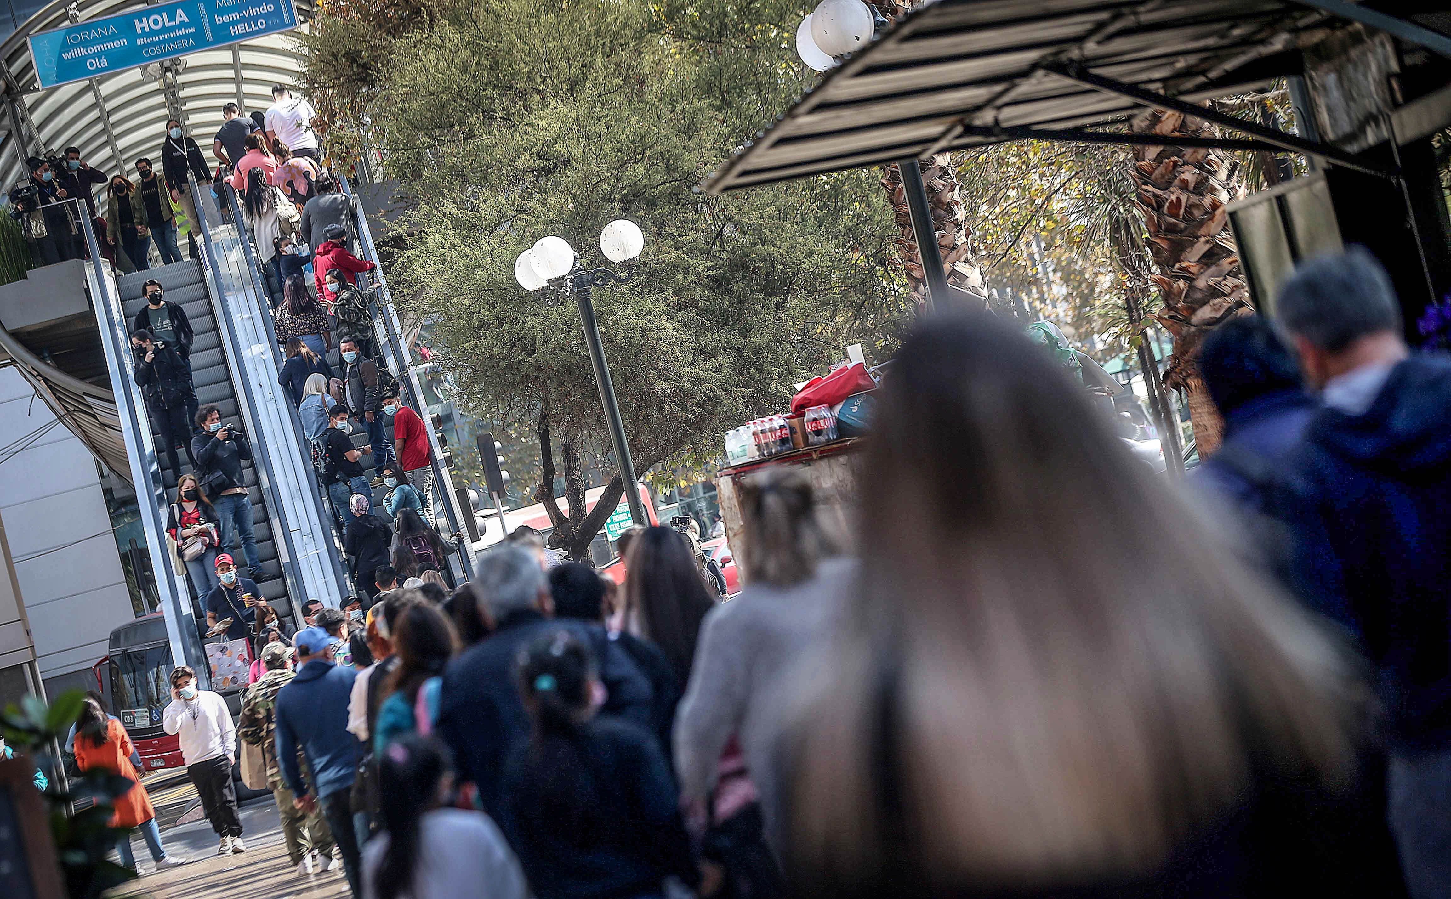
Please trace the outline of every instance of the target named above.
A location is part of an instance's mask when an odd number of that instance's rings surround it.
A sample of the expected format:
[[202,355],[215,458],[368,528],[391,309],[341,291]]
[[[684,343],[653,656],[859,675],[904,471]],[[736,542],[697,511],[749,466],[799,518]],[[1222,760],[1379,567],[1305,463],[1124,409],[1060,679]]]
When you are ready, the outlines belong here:
[[551,621],[544,571],[533,552],[498,547],[479,560],[473,584],[498,626],[483,641],[459,654],[443,674],[438,696],[438,735],[454,753],[460,780],[479,787],[483,809],[499,815],[503,763],[509,750],[530,735],[530,716],[514,683],[519,650],[538,635],[569,631],[589,645],[599,663],[607,699],[602,712],[650,726],[650,682],[620,650],[602,625]]

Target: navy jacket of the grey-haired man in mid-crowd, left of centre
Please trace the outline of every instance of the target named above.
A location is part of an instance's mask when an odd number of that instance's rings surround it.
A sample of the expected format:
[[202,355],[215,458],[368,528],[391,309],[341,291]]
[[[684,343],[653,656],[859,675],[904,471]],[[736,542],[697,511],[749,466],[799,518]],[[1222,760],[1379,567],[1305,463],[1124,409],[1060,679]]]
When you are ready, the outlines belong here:
[[[479,786],[483,811],[498,818],[503,766],[515,742],[530,735],[530,716],[514,686],[519,650],[541,634],[570,631],[586,642],[599,664],[609,697],[605,713],[651,725],[654,695],[634,661],[609,641],[604,626],[582,621],[548,621],[538,612],[518,612],[499,629],[456,657],[444,670],[438,696],[438,737],[454,753],[460,780]],[[344,703],[345,705],[345,703]]]

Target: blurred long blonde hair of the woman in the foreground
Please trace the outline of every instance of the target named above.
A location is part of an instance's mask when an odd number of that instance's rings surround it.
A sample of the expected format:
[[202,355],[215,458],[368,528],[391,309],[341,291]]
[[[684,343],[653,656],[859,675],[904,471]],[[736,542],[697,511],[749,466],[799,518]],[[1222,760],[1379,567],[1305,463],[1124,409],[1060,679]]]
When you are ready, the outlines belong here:
[[1354,768],[1319,622],[982,319],[918,326],[881,392],[859,589],[788,715],[807,895],[1143,874],[1255,764]]

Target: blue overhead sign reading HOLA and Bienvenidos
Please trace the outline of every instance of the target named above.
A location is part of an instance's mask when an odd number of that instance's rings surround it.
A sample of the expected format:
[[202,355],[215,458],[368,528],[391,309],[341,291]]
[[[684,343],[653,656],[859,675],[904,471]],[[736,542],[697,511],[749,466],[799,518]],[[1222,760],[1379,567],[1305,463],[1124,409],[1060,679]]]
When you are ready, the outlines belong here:
[[293,0],[174,0],[30,35],[41,87],[292,30]]

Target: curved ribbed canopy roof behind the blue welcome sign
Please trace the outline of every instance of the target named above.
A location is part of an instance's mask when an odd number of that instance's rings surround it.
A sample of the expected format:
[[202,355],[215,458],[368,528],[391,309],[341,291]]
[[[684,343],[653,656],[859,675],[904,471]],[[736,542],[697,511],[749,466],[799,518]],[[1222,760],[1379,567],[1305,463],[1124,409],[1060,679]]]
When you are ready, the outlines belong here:
[[[17,115],[28,119],[19,126],[33,135],[17,141],[13,119],[0,115],[0,128],[4,129],[0,138],[0,194],[9,193],[16,180],[26,177],[20,160],[38,149],[36,141],[57,152],[78,146],[81,158],[104,173],[125,170],[135,177],[139,157],[149,157],[160,165],[165,120],[171,116],[161,81],[131,68],[48,90],[36,87],[26,38],[68,25],[70,6],[68,0],[55,0],[0,45],[0,90],[16,100]],[[74,6],[84,22],[148,4],[138,0],[80,0]],[[297,0],[296,7],[299,22],[312,17],[311,0]],[[216,165],[212,138],[222,125],[222,104],[238,103],[244,113],[271,106],[273,84],[297,78],[300,61],[293,44],[289,33],[277,33],[183,57],[186,68],[176,75],[181,116],[187,135],[202,148],[209,165]]]

